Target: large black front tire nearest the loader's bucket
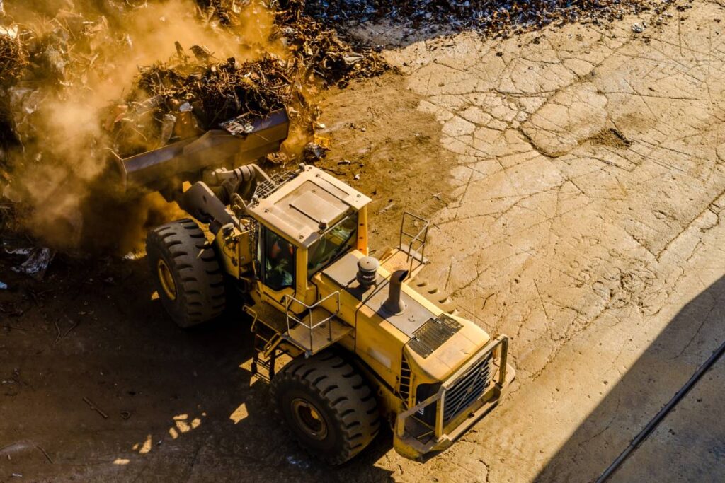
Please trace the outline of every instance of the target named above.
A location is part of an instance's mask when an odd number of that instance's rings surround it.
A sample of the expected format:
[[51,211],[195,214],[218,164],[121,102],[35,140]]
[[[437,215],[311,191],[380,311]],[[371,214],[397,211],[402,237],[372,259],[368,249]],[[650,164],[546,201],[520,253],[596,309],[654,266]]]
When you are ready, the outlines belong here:
[[[162,224],[146,236],[146,253],[159,298],[179,327],[219,316],[226,305],[216,254],[193,219]],[[201,253],[199,255],[199,253]]]

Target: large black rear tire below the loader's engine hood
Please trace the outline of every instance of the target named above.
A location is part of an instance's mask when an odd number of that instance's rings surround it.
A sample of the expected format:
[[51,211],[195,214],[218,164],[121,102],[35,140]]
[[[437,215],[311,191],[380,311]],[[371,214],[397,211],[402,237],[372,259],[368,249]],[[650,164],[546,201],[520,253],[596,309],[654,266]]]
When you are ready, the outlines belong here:
[[331,465],[360,453],[380,429],[375,395],[332,352],[291,361],[273,378],[270,395],[299,445]]

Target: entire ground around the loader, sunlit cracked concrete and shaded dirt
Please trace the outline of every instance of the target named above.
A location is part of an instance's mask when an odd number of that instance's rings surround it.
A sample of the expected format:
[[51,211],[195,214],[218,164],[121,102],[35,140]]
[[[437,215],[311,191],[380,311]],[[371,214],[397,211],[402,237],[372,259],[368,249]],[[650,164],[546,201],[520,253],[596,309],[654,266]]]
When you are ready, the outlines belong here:
[[[450,450],[413,463],[383,433],[324,466],[251,377],[243,316],[176,328],[143,257],[57,256],[42,282],[4,257],[0,481],[596,479],[725,340],[724,18],[360,28],[402,73],[326,94],[318,165],[376,200],[378,251],[402,211],[431,217],[424,275],[512,339],[510,392]],[[722,362],[613,481],[722,481],[721,385]]]

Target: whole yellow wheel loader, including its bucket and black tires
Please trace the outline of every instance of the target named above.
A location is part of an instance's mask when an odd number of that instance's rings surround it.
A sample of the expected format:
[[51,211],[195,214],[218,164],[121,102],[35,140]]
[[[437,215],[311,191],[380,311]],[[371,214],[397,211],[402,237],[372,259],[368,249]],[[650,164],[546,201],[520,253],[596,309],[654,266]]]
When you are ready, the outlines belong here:
[[427,263],[424,219],[406,213],[399,246],[369,256],[370,198],[312,166],[267,175],[249,163],[279,148],[286,113],[239,122],[121,161],[128,189],[159,190],[193,217],[147,238],[166,311],[191,327],[241,295],[252,371],[323,461],[357,455],[381,424],[406,458],[449,447],[513,379],[508,337],[444,311],[450,300],[414,281]]

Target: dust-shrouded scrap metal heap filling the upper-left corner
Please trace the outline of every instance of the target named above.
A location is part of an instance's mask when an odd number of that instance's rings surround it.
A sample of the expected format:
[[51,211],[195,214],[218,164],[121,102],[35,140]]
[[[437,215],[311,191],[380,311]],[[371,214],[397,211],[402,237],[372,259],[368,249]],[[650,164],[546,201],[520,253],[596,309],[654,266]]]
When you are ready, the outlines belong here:
[[309,99],[389,69],[275,0],[34,4],[0,9],[0,232],[51,245],[75,245],[115,159],[281,107],[297,135],[274,160],[318,157]]

